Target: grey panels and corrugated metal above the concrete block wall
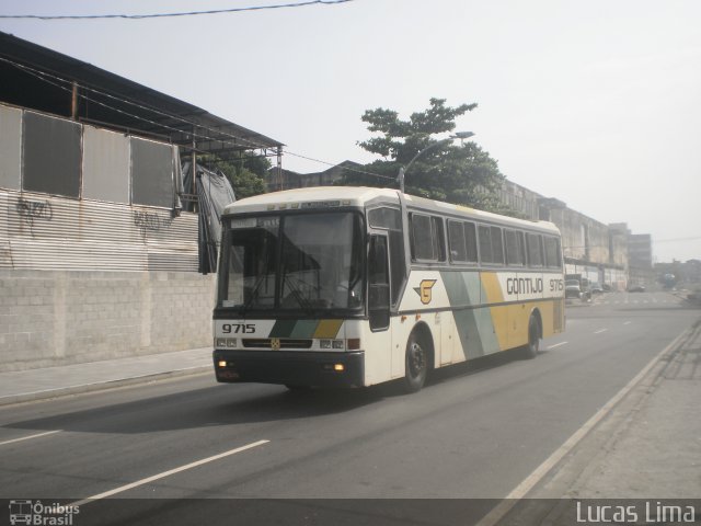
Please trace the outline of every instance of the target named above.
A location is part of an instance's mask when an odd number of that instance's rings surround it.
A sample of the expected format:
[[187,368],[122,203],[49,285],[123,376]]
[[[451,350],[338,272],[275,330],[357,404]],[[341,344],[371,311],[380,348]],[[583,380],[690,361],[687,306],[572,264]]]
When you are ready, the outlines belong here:
[[[38,132],[25,137],[32,123]],[[42,164],[61,145],[58,136],[44,140],[44,128],[79,130],[80,157],[65,176]],[[0,139],[7,161],[0,163],[0,268],[197,272],[197,215],[174,217],[171,208],[180,176],[175,147],[1,104]],[[56,181],[61,178],[71,183],[68,191]],[[28,191],[37,184],[41,192]]]

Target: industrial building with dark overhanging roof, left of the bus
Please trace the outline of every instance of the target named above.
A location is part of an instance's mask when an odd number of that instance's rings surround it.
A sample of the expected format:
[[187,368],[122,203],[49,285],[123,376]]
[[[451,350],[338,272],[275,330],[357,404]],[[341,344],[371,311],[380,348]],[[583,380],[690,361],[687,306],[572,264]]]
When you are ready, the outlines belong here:
[[4,33],[0,76],[0,370],[210,345],[197,158],[283,145]]

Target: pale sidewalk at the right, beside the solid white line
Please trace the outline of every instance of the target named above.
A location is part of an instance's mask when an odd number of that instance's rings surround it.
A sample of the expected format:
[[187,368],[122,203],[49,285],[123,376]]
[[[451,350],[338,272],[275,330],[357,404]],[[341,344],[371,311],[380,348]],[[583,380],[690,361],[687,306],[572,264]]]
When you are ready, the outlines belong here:
[[701,320],[527,496],[701,499]]

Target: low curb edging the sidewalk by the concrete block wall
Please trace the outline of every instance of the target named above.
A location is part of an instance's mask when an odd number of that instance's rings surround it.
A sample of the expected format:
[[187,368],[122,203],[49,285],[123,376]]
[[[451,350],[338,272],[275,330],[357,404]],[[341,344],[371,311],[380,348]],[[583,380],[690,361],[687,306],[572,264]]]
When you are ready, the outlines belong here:
[[150,384],[152,381],[165,380],[169,378],[199,375],[211,370],[211,365],[198,365],[184,369],[168,370],[163,373],[154,373],[151,375],[135,376],[130,378],[117,378],[114,380],[95,381],[93,384],[82,384],[78,386],[59,387],[57,389],[46,389],[44,391],[10,395],[7,397],[0,397],[0,407],[13,405],[15,403],[22,402],[35,402],[38,400],[49,400],[54,398],[67,397],[70,395],[81,395],[84,392],[103,391],[115,389],[118,387],[134,386],[138,384]]

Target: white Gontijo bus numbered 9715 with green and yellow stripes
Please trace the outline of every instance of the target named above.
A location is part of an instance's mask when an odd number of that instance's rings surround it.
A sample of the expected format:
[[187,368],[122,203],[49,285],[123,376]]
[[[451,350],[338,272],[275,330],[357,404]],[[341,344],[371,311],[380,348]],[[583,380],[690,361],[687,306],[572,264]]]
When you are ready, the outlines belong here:
[[229,205],[214,309],[220,382],[367,387],[562,332],[560,231],[372,187]]

